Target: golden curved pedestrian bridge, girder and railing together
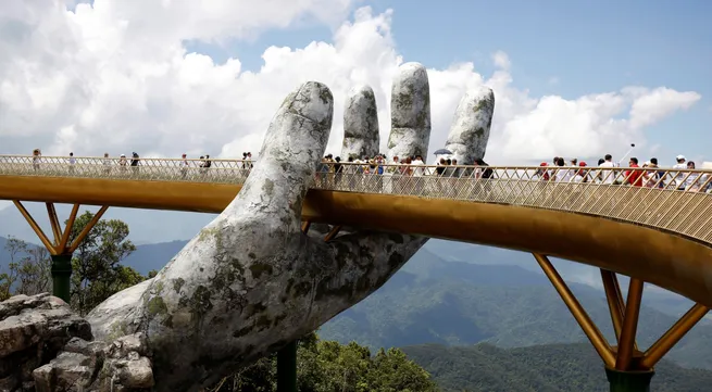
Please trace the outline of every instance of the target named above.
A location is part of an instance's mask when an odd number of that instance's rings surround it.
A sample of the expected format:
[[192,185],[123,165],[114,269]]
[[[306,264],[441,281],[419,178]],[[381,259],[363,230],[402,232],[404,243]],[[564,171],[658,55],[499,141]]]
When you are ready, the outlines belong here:
[[[53,160],[35,165],[32,157],[0,157],[0,199],[220,213],[248,174],[234,161],[200,168],[180,167],[178,160],[142,160],[134,168]],[[472,168],[449,177],[365,175],[351,168],[323,174],[307,197],[303,217],[549,254],[712,306],[710,193],[679,191],[672,184],[541,181],[534,175],[538,167],[492,169],[496,178],[488,180],[475,178]],[[708,172],[680,173],[698,176],[701,189],[712,180]]]

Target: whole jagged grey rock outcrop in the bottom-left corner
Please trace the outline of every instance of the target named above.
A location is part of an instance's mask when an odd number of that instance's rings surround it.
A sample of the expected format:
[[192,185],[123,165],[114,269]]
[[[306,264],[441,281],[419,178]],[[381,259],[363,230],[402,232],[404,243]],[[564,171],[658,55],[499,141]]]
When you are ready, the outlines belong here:
[[142,391],[153,387],[142,334],[91,341],[91,328],[47,293],[0,303],[0,392]]

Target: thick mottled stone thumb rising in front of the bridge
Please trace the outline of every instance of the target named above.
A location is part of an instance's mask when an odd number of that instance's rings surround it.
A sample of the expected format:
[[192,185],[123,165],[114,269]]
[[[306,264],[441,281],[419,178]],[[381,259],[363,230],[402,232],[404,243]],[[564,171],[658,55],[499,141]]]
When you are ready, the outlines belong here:
[[224,215],[248,214],[248,218],[298,228],[303,199],[326,149],[333,115],[334,97],[325,85],[307,81],[289,93],[272,118],[242,190]]

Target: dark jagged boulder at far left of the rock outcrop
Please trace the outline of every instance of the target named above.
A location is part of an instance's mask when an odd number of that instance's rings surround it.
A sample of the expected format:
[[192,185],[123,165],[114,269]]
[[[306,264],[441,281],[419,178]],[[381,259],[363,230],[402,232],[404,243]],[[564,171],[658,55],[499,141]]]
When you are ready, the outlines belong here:
[[70,339],[92,338],[89,323],[47,293],[0,303],[0,390],[32,385],[33,370],[54,358]]

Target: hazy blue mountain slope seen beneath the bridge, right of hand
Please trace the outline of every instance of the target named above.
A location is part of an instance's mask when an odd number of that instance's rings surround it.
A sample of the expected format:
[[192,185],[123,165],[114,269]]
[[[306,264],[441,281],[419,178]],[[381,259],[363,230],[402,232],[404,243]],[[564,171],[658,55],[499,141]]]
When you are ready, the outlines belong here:
[[[602,292],[570,284],[612,341]],[[638,342],[648,346],[676,318],[644,300]],[[371,347],[423,343],[500,347],[586,341],[565,305],[540,274],[515,266],[444,262],[421,251],[380,290],[320,329],[326,340]],[[712,326],[699,325],[670,353],[684,366],[712,368]]]

